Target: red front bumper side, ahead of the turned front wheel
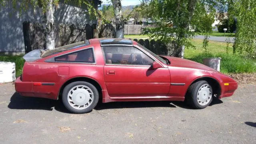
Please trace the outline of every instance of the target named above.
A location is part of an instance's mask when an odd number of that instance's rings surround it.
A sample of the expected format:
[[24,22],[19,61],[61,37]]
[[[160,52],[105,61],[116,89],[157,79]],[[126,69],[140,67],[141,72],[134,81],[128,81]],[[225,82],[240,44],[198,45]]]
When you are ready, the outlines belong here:
[[222,94],[218,97],[219,99],[232,96],[238,88],[237,82],[229,82],[228,84],[228,86],[224,86],[224,83],[222,84]]

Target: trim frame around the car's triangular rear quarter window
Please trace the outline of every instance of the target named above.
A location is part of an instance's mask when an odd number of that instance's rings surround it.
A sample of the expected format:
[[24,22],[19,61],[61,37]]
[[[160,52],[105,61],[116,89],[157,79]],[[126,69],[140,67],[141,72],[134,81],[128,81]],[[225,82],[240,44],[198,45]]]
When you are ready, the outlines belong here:
[[[90,49],[90,48],[92,48],[92,54],[93,54],[94,62],[56,61],[55,60],[55,58],[57,58],[57,57],[68,55],[68,54],[72,54],[72,53],[79,52],[79,51],[86,50],[86,49]],[[80,49],[80,50],[74,50],[72,52],[68,52],[68,53],[65,53],[65,54],[60,54],[58,56],[54,56],[52,58],[48,58],[44,62],[73,63],[73,64],[96,64],[96,57],[95,57],[94,47],[92,46],[92,47],[83,48],[83,49]]]

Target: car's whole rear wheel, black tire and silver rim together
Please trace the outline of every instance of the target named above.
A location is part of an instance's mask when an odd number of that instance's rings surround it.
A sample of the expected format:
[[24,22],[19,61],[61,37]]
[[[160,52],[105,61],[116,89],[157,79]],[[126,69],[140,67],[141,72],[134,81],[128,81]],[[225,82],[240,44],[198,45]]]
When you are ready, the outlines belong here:
[[97,105],[99,93],[97,88],[83,81],[68,84],[62,94],[64,106],[73,113],[87,113]]

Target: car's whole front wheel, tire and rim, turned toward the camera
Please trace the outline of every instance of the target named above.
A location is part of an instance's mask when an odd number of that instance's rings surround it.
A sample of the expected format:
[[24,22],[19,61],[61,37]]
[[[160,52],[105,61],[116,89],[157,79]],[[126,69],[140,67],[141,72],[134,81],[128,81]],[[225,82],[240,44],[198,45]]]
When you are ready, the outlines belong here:
[[212,86],[205,80],[201,80],[189,87],[186,98],[193,108],[202,109],[212,102],[212,95]]

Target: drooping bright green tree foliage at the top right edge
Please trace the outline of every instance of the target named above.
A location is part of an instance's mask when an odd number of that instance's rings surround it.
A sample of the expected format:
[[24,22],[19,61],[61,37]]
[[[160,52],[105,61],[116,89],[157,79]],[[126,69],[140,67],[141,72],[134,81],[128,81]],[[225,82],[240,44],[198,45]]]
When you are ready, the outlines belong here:
[[256,55],[256,1],[255,0],[227,0],[228,17],[236,20],[236,34],[233,52]]

